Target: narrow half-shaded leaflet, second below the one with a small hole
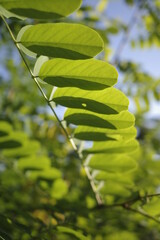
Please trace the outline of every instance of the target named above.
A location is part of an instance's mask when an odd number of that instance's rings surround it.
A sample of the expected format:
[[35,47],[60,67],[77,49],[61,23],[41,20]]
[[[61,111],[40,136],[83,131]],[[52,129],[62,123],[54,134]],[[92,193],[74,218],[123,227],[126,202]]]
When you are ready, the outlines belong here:
[[108,139],[130,140],[132,138],[135,138],[136,134],[137,130],[135,127],[126,129],[106,129],[78,126],[74,131],[75,138],[89,141],[105,141]]

